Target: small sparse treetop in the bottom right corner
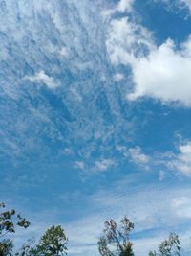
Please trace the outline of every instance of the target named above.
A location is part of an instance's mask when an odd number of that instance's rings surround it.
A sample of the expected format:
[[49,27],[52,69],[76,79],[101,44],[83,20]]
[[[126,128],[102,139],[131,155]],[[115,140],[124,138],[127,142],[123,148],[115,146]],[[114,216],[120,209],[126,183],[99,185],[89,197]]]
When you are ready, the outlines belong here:
[[159,244],[159,251],[150,251],[149,256],[181,256],[181,246],[179,236],[170,233],[168,239]]

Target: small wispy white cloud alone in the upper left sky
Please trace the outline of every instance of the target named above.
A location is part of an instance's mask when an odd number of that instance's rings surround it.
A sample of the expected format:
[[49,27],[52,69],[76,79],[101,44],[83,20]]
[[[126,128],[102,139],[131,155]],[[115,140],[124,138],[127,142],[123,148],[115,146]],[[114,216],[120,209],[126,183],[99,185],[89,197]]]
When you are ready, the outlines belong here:
[[50,89],[54,89],[57,86],[59,86],[58,82],[54,81],[54,79],[52,77],[49,77],[44,72],[44,70],[39,71],[33,77],[26,77],[25,79],[28,79],[28,80],[33,81],[33,82],[44,83]]

